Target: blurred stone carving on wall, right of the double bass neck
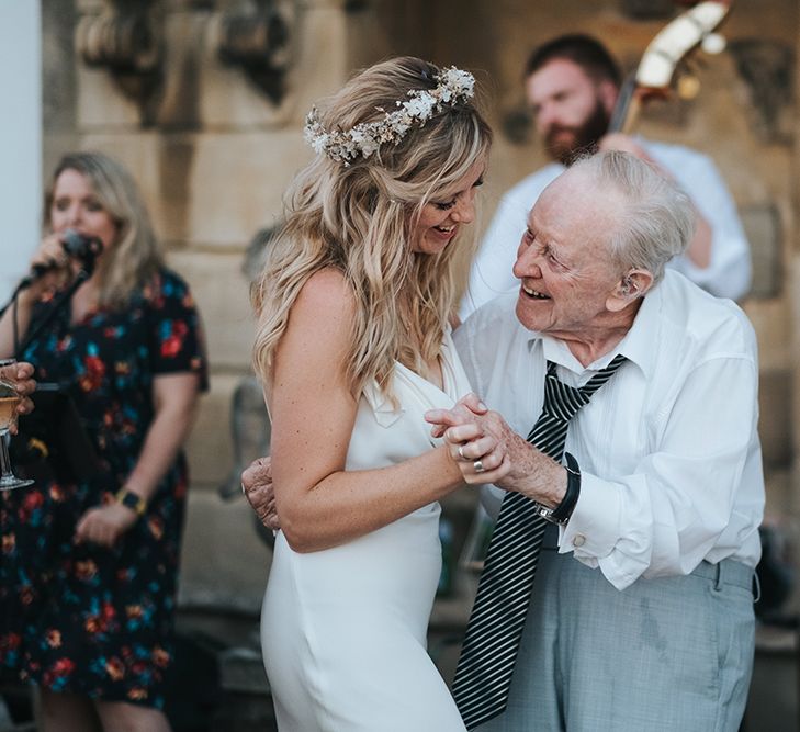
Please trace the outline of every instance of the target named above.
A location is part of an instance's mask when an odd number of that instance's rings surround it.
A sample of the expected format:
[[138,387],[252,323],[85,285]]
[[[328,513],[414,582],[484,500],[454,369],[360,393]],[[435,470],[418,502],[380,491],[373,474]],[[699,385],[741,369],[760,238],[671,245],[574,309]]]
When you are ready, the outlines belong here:
[[753,129],[763,143],[792,142],[795,53],[787,44],[739,38],[728,48],[752,100]]

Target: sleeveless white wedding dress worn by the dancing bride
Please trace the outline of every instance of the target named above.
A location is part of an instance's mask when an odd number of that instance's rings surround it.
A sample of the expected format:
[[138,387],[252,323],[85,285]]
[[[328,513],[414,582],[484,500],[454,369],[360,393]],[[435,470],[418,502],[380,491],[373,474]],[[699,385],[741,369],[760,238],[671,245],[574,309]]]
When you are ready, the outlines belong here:
[[[399,409],[361,397],[347,470],[393,465],[436,441],[422,415],[470,391],[446,337],[442,392],[397,364]],[[376,477],[380,480],[380,477]],[[298,554],[281,532],[261,611],[261,649],[281,732],[463,732],[426,652],[441,570],[439,504],[325,551]]]

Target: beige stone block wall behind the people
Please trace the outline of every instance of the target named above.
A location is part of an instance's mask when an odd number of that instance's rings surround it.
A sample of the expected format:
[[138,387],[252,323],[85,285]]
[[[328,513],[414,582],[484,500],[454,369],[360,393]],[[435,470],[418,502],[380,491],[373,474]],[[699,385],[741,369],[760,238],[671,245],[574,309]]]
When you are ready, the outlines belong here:
[[[499,194],[541,165],[526,122],[520,68],[529,49],[557,33],[604,38],[627,68],[669,18],[669,3],[633,0],[156,0],[147,27],[158,64],[128,70],[89,66],[92,27],[137,3],[47,0],[45,47],[45,174],[74,146],[123,160],[139,181],[170,262],[191,283],[205,322],[212,390],[189,442],[193,485],[183,601],[233,601],[255,609],[269,553],[257,540],[243,502],[216,488],[230,475],[230,397],[249,373],[252,323],[243,256],[253,234],[281,211],[293,172],[308,159],[301,135],[313,100],[337,88],[353,68],[410,53],[477,72],[498,131],[484,223]],[[146,4],[146,3],[145,3]],[[235,16],[274,9],[286,32],[267,54],[274,69],[232,65],[221,47],[246,50],[230,34]],[[642,8],[661,11],[641,18]],[[667,8],[667,10],[669,10]],[[277,20],[275,20],[277,19]],[[245,18],[246,20],[246,18]],[[245,27],[247,27],[247,23]],[[278,27],[278,26],[275,26]],[[640,131],[703,150],[718,164],[741,206],[756,264],[743,304],[759,340],[762,435],[769,478],[768,513],[800,510],[790,468],[798,453],[791,426],[800,362],[796,337],[799,246],[791,185],[795,52],[793,0],[735,3],[725,24],[729,52],[700,56],[700,94],[647,108]],[[233,41],[232,41],[233,40]],[[136,59],[134,59],[136,60]]]

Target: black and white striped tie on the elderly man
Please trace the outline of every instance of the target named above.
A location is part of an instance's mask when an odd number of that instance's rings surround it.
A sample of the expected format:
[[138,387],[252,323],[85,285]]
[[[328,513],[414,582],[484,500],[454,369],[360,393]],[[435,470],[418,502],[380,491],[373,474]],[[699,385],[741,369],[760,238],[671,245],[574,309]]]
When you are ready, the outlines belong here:
[[[548,362],[544,406],[528,441],[561,462],[570,419],[619,369],[617,356],[584,386],[562,384]],[[503,499],[453,682],[453,697],[467,730],[503,712],[528,613],[542,536],[548,526],[537,504],[520,493]]]

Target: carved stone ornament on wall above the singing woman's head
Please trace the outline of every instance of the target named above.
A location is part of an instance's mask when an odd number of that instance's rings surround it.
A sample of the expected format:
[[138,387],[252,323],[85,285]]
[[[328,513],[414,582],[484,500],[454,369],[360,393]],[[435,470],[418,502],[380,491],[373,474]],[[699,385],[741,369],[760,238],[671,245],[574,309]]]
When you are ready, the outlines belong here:
[[164,74],[155,4],[154,0],[113,0],[99,15],[81,19],[76,37],[83,63],[106,69],[122,92],[139,105],[145,121]]

